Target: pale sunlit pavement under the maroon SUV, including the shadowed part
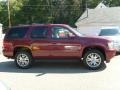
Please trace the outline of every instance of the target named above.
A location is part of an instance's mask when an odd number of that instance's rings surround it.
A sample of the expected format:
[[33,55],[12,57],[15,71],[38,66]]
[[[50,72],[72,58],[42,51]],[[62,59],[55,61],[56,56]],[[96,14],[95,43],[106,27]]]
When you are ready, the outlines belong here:
[[42,61],[18,69],[0,55],[0,80],[11,90],[120,90],[120,56],[100,70],[87,70],[78,61]]

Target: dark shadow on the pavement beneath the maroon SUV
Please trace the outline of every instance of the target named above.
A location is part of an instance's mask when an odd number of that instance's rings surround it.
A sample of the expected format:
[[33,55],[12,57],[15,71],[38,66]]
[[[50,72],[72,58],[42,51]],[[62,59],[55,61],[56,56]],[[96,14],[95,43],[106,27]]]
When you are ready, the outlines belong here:
[[34,63],[30,69],[19,69],[15,66],[14,61],[0,62],[0,72],[9,73],[39,73],[41,76],[47,73],[92,73],[103,71],[104,65],[99,70],[88,70],[79,60],[41,60]]

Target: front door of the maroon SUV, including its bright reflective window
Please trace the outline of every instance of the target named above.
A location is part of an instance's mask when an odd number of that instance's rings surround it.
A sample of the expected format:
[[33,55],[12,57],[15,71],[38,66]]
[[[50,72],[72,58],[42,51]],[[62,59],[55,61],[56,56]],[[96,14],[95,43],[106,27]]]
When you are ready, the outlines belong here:
[[74,33],[62,26],[52,27],[51,32],[52,56],[80,57],[81,45]]

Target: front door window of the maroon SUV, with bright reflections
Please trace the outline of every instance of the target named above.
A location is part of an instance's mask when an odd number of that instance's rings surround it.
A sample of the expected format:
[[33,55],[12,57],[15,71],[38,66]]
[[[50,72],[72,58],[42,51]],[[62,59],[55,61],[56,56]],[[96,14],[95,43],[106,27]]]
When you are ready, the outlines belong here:
[[64,27],[53,27],[52,28],[52,38],[55,39],[67,39],[73,37],[74,34]]

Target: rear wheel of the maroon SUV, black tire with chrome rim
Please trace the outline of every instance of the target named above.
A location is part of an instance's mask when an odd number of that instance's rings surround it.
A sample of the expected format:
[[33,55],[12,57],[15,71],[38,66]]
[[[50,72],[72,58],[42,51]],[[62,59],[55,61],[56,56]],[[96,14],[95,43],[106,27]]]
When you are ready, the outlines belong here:
[[[21,57],[21,60],[23,59],[23,61],[20,61],[20,57]],[[25,63],[25,61],[26,61],[26,63]],[[32,55],[29,52],[19,51],[19,52],[16,53],[15,64],[18,68],[28,69],[32,66],[32,63],[33,63],[33,58],[32,58]],[[24,65],[24,64],[26,64],[26,65]]]

